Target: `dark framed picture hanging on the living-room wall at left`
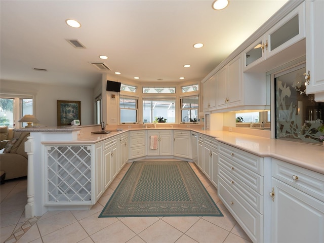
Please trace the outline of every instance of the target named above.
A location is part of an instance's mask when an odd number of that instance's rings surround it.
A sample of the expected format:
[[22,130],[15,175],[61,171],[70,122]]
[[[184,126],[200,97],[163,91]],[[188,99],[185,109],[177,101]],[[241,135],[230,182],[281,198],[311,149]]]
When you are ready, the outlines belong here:
[[76,119],[81,123],[81,101],[58,100],[57,126],[71,125]]

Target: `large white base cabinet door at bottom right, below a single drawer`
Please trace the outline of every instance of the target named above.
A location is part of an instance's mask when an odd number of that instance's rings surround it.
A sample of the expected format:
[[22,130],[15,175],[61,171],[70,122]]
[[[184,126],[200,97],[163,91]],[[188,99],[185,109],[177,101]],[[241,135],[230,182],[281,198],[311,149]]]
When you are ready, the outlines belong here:
[[275,178],[271,242],[324,242],[324,203]]

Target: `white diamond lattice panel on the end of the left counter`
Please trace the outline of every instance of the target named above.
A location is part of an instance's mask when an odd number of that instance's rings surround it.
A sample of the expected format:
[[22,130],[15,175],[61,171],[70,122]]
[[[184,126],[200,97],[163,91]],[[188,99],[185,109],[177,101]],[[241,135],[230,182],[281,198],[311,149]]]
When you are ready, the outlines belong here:
[[91,146],[47,146],[48,201],[91,200]]

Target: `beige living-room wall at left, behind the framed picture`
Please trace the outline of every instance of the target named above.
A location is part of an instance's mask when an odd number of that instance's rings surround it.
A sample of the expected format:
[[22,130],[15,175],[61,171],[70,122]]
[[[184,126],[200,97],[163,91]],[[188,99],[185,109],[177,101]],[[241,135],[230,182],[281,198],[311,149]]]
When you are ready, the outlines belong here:
[[[81,125],[94,124],[94,89],[1,80],[0,93],[34,94],[39,125],[57,126],[57,100],[81,101]],[[20,117],[19,117],[20,118]]]

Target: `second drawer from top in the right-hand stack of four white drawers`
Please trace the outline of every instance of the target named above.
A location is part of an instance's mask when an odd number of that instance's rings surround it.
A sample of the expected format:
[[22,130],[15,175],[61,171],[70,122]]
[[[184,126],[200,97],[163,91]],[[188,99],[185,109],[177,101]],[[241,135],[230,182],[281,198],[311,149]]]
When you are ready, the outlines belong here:
[[236,181],[245,184],[263,195],[263,177],[239,165],[238,163],[228,159],[222,154],[219,154],[219,165],[228,171]]

